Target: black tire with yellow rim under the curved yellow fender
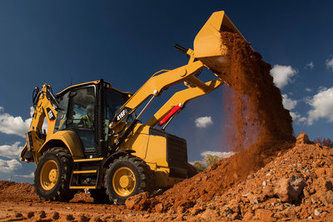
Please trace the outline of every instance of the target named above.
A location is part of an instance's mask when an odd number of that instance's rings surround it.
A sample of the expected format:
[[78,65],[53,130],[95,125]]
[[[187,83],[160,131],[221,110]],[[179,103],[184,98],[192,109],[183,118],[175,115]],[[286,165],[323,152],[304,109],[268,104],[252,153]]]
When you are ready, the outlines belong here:
[[34,187],[42,200],[68,202],[75,192],[69,189],[73,159],[67,149],[55,147],[40,158],[34,177]]

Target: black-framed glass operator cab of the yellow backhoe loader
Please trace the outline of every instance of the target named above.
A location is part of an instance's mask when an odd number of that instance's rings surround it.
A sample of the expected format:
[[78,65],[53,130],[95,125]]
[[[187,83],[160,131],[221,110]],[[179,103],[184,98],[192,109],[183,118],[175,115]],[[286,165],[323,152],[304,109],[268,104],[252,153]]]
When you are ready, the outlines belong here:
[[130,96],[103,80],[71,86],[56,96],[60,109],[54,132],[75,131],[86,158],[103,157],[109,144],[109,124]]

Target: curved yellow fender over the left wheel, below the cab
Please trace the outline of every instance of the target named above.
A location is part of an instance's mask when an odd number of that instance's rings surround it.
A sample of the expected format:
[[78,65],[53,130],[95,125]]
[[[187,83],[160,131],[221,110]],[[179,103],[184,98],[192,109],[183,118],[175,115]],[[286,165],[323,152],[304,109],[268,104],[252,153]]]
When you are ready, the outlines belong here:
[[40,154],[45,150],[56,146],[63,146],[63,144],[68,148],[73,159],[80,159],[84,157],[81,141],[76,133],[70,130],[63,130],[58,131],[47,138],[43,146],[41,146],[41,148],[36,152],[38,156],[37,159],[39,159]]

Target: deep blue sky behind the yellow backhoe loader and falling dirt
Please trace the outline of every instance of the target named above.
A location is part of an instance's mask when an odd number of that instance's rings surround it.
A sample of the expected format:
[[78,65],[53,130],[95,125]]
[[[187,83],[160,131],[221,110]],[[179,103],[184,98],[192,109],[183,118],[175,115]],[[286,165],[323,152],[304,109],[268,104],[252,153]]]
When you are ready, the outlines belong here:
[[[218,10],[272,64],[295,134],[332,138],[332,8],[331,1],[0,1],[0,179],[31,182],[34,164],[15,162],[15,152],[24,144],[34,86],[46,82],[59,92],[103,78],[135,92],[152,73],[184,65],[173,45],[192,47]],[[187,139],[190,161],[227,151],[223,112],[219,89],[170,125],[168,132]],[[199,117],[207,117],[199,124],[205,127],[196,126]]]

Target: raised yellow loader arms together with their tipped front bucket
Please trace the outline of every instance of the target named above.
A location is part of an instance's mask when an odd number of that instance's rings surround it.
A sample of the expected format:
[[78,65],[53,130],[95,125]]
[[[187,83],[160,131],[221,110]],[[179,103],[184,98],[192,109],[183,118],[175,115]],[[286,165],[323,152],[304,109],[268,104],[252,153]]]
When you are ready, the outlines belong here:
[[[117,122],[122,122],[146,99],[152,96],[137,116],[137,119],[140,118],[141,114],[156,96],[161,95],[164,90],[175,84],[184,82],[184,84],[188,86],[188,89],[175,93],[172,98],[170,98],[170,100],[164,104],[164,106],[162,106],[161,109],[158,110],[148,121],[148,125],[155,126],[161,118],[166,116],[168,112],[172,110],[172,107],[179,105],[179,103],[181,103],[183,108],[187,101],[205,95],[221,86],[224,83],[224,76],[228,75],[230,72],[230,61],[227,57],[229,49],[221,40],[220,33],[222,31],[237,33],[244,39],[242,34],[238,31],[236,26],[231,22],[224,11],[214,12],[196,35],[193,42],[193,50],[175,45],[176,49],[190,57],[188,64],[174,70],[155,73],[119,109],[115,115]],[[206,83],[199,80],[196,77],[196,74],[203,68],[211,70],[217,78]],[[131,109],[131,111],[127,112],[126,108]],[[136,121],[131,124],[131,127],[127,127],[129,130],[126,130],[126,134],[128,134],[128,131],[131,130],[130,128],[133,128]],[[117,128],[119,130],[119,125],[121,124],[111,124],[111,131],[117,131]]]

